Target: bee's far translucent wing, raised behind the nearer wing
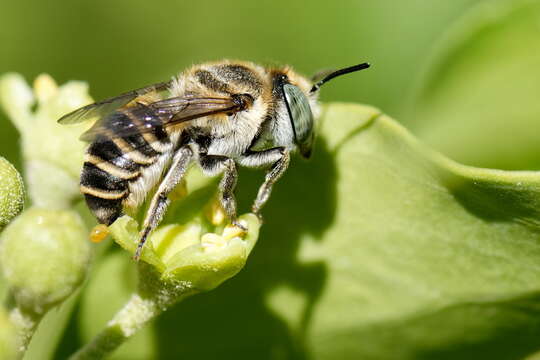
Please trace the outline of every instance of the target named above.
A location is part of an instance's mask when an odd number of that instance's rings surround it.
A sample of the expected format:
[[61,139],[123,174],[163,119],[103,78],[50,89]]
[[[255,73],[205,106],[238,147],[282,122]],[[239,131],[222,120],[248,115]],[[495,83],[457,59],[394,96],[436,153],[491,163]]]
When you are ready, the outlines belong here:
[[90,118],[101,118],[114,112],[116,109],[127,105],[137,97],[146,95],[150,92],[160,92],[169,88],[171,81],[160,82],[135,89],[119,96],[111,97],[93,104],[83,106],[75,111],[62,116],[58,122],[60,124],[77,124]]

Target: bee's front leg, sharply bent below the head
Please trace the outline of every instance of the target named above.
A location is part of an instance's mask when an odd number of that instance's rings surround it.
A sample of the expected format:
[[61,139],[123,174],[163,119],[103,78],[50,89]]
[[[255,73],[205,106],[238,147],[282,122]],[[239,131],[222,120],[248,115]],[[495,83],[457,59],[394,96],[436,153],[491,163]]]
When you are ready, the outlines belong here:
[[264,183],[259,188],[257,198],[251,208],[253,213],[259,218],[261,218],[262,207],[270,197],[272,186],[289,167],[290,158],[290,154],[285,148],[277,147],[259,152],[248,152],[239,160],[240,164],[250,167],[272,164],[266,173]]

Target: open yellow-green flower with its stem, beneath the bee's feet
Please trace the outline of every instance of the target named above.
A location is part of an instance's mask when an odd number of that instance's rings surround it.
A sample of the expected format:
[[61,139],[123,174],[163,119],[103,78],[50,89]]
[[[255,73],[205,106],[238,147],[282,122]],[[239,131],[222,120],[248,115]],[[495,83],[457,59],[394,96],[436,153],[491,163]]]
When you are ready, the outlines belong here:
[[[146,323],[180,300],[209,291],[236,275],[246,264],[259,231],[255,215],[241,216],[247,234],[227,226],[220,235],[202,233],[200,223],[160,228],[148,240],[139,264],[139,285],[106,327],[71,359],[108,355]],[[134,220],[123,217],[111,226],[116,241],[135,253],[139,239]]]

